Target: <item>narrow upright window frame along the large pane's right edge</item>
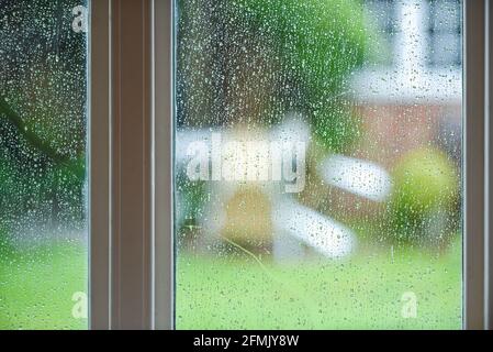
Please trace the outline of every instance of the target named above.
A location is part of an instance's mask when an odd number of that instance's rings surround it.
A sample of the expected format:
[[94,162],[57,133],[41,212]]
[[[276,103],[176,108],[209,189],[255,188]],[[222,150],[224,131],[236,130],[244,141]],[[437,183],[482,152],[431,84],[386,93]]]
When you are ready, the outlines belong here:
[[463,1],[463,328],[486,327],[489,141],[485,109],[486,1]]

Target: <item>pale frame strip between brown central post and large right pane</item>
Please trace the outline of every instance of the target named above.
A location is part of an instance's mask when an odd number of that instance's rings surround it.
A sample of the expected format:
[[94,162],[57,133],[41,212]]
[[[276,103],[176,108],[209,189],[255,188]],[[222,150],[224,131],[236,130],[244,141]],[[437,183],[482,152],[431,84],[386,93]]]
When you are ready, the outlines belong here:
[[154,318],[156,329],[173,327],[173,69],[172,0],[153,0],[154,89]]

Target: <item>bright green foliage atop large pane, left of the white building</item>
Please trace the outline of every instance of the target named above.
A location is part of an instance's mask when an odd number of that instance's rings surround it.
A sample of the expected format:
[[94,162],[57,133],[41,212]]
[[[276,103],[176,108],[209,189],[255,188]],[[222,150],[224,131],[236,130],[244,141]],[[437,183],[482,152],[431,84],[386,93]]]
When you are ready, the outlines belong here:
[[[303,100],[316,110],[362,64],[367,45],[362,8],[347,0],[244,0],[244,21],[255,19],[265,40],[282,55]],[[238,11],[238,12],[239,12]],[[242,21],[243,22],[243,21]]]

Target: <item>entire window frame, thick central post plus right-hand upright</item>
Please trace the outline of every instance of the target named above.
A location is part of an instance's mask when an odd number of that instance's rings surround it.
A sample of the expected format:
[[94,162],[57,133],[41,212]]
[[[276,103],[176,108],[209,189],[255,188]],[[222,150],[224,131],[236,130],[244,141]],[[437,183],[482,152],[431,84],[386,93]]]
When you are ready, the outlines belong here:
[[[90,2],[90,329],[172,329],[175,4]],[[493,6],[463,3],[463,328],[491,329]]]

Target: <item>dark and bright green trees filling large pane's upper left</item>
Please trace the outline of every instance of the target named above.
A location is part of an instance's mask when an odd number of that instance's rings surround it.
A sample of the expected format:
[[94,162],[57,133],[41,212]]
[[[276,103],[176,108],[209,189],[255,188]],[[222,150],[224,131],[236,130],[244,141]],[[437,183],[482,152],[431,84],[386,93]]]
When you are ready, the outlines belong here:
[[192,0],[179,12],[179,124],[269,124],[296,111],[327,148],[350,143],[347,78],[370,54],[358,1]]

